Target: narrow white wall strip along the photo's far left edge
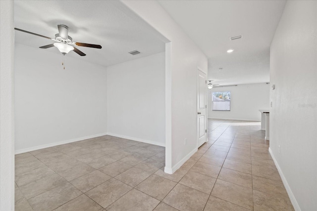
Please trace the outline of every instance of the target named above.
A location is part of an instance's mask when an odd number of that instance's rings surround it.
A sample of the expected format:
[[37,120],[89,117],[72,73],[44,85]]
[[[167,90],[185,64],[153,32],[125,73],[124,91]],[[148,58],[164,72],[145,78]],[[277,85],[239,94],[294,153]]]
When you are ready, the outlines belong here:
[[0,210],[14,210],[13,1],[0,1]]

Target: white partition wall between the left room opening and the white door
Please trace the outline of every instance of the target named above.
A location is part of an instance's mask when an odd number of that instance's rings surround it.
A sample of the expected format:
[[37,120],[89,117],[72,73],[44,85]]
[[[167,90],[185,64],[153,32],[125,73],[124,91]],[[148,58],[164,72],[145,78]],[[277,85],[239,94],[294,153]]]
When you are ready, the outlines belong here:
[[207,74],[207,57],[157,1],[121,2],[170,41],[165,51],[165,172],[172,173],[197,151],[196,76],[198,67]]

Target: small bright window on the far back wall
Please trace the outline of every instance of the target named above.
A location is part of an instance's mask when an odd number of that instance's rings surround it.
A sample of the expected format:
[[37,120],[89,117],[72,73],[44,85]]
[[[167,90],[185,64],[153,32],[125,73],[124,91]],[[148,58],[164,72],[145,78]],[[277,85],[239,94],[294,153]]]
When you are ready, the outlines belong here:
[[212,111],[230,111],[230,91],[212,92]]

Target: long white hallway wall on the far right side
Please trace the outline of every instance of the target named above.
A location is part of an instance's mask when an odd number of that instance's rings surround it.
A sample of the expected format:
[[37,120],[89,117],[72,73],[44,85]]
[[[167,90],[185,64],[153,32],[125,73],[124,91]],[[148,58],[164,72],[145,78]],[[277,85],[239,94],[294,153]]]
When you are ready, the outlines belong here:
[[302,211],[317,210],[316,28],[317,1],[287,1],[270,48],[269,150]]

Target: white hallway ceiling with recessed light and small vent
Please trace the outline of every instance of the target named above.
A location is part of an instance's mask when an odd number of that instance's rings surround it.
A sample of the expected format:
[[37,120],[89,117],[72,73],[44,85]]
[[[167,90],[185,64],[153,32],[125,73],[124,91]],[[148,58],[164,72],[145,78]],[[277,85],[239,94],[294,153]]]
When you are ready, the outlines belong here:
[[[269,81],[269,46],[286,0],[159,0],[159,3],[207,55],[212,84]],[[238,35],[243,38],[229,40]],[[230,48],[234,51],[228,54]]]

